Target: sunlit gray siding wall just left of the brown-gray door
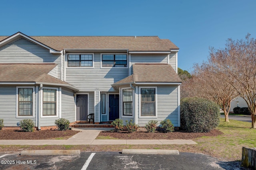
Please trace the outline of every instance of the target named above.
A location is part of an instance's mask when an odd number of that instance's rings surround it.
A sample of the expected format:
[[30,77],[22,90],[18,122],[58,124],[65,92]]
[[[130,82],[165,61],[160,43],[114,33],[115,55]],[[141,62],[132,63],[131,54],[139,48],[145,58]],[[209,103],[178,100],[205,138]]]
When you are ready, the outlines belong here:
[[68,119],[70,123],[72,123],[76,118],[74,93],[68,89],[62,88],[61,98],[61,117]]

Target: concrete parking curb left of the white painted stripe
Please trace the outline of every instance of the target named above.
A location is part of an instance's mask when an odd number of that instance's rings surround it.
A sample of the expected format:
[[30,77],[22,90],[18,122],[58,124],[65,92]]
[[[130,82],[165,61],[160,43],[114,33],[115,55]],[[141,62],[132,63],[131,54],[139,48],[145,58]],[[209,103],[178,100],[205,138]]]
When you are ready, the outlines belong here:
[[22,150],[20,155],[80,154],[80,150]]

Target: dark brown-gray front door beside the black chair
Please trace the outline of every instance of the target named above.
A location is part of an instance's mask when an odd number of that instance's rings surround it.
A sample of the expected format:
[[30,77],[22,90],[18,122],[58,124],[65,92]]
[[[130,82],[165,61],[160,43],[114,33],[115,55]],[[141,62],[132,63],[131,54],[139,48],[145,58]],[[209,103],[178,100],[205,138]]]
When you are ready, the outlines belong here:
[[76,96],[76,120],[86,121],[88,114],[88,95],[78,94]]

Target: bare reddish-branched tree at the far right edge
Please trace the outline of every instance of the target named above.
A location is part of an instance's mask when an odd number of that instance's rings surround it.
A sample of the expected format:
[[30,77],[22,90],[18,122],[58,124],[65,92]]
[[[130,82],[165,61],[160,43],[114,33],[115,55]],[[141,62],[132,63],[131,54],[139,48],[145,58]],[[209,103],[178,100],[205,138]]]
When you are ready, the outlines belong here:
[[250,34],[245,40],[228,39],[224,49],[211,50],[210,60],[228,74],[224,81],[246,101],[256,129],[256,40]]

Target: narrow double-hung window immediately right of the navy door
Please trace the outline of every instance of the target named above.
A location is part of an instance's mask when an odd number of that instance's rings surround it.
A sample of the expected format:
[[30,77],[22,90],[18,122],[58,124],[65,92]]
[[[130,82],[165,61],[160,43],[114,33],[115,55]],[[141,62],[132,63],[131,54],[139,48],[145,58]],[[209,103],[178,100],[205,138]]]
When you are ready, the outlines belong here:
[[132,89],[123,89],[123,115],[132,116]]

